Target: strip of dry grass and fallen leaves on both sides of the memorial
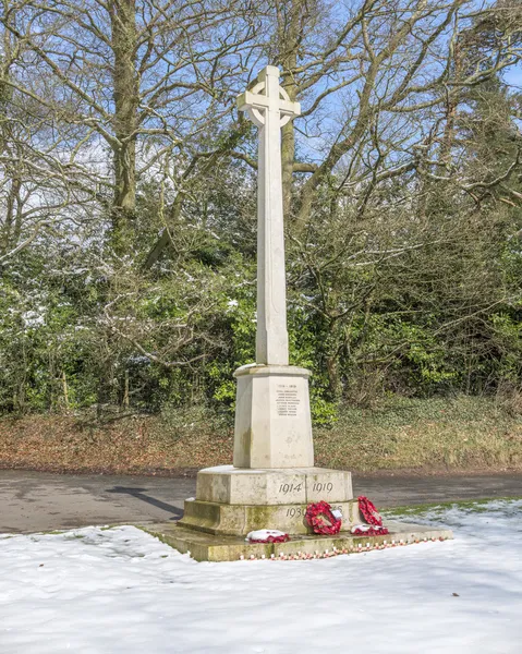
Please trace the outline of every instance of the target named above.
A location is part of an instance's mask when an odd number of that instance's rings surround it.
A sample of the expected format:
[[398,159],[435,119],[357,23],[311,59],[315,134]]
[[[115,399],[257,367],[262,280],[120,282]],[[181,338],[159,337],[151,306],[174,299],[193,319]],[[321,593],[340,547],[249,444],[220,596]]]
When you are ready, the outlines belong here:
[[[0,421],[0,465],[68,472],[167,474],[230,463],[230,422],[201,409],[122,417],[99,426],[77,416]],[[522,470],[522,417],[494,400],[398,400],[345,409],[315,429],[318,465],[361,472]]]

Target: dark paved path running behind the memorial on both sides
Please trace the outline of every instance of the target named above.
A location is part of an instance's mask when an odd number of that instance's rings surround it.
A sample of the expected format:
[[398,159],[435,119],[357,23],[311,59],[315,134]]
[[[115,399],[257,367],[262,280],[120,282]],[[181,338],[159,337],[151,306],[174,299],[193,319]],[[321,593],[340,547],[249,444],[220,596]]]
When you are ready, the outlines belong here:
[[[59,475],[0,470],[0,533],[89,524],[178,520],[195,479]],[[489,497],[522,497],[522,474],[432,477],[354,476],[354,495],[378,507]]]

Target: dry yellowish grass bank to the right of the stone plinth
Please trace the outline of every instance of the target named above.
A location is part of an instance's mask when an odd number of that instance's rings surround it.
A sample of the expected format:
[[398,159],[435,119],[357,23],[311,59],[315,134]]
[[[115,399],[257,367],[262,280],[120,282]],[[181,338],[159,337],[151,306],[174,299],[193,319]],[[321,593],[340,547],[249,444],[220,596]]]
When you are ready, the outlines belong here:
[[494,400],[394,398],[374,410],[345,409],[316,432],[319,465],[373,470],[521,470],[522,416]]

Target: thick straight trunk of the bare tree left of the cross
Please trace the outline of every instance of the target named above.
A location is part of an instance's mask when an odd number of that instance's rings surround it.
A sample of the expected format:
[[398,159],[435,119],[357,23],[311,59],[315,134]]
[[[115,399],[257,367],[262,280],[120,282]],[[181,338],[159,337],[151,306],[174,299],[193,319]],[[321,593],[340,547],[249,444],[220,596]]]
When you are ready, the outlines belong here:
[[110,2],[111,39],[114,57],[114,198],[112,240],[117,252],[128,250],[136,206],[136,130],[139,82],[135,69],[137,28],[136,0]]

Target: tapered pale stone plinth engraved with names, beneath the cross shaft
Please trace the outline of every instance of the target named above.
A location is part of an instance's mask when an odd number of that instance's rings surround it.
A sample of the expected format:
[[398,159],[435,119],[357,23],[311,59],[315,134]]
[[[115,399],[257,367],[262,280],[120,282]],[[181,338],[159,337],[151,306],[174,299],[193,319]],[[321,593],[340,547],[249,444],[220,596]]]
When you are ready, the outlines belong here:
[[309,371],[290,365],[238,368],[235,468],[312,468]]

